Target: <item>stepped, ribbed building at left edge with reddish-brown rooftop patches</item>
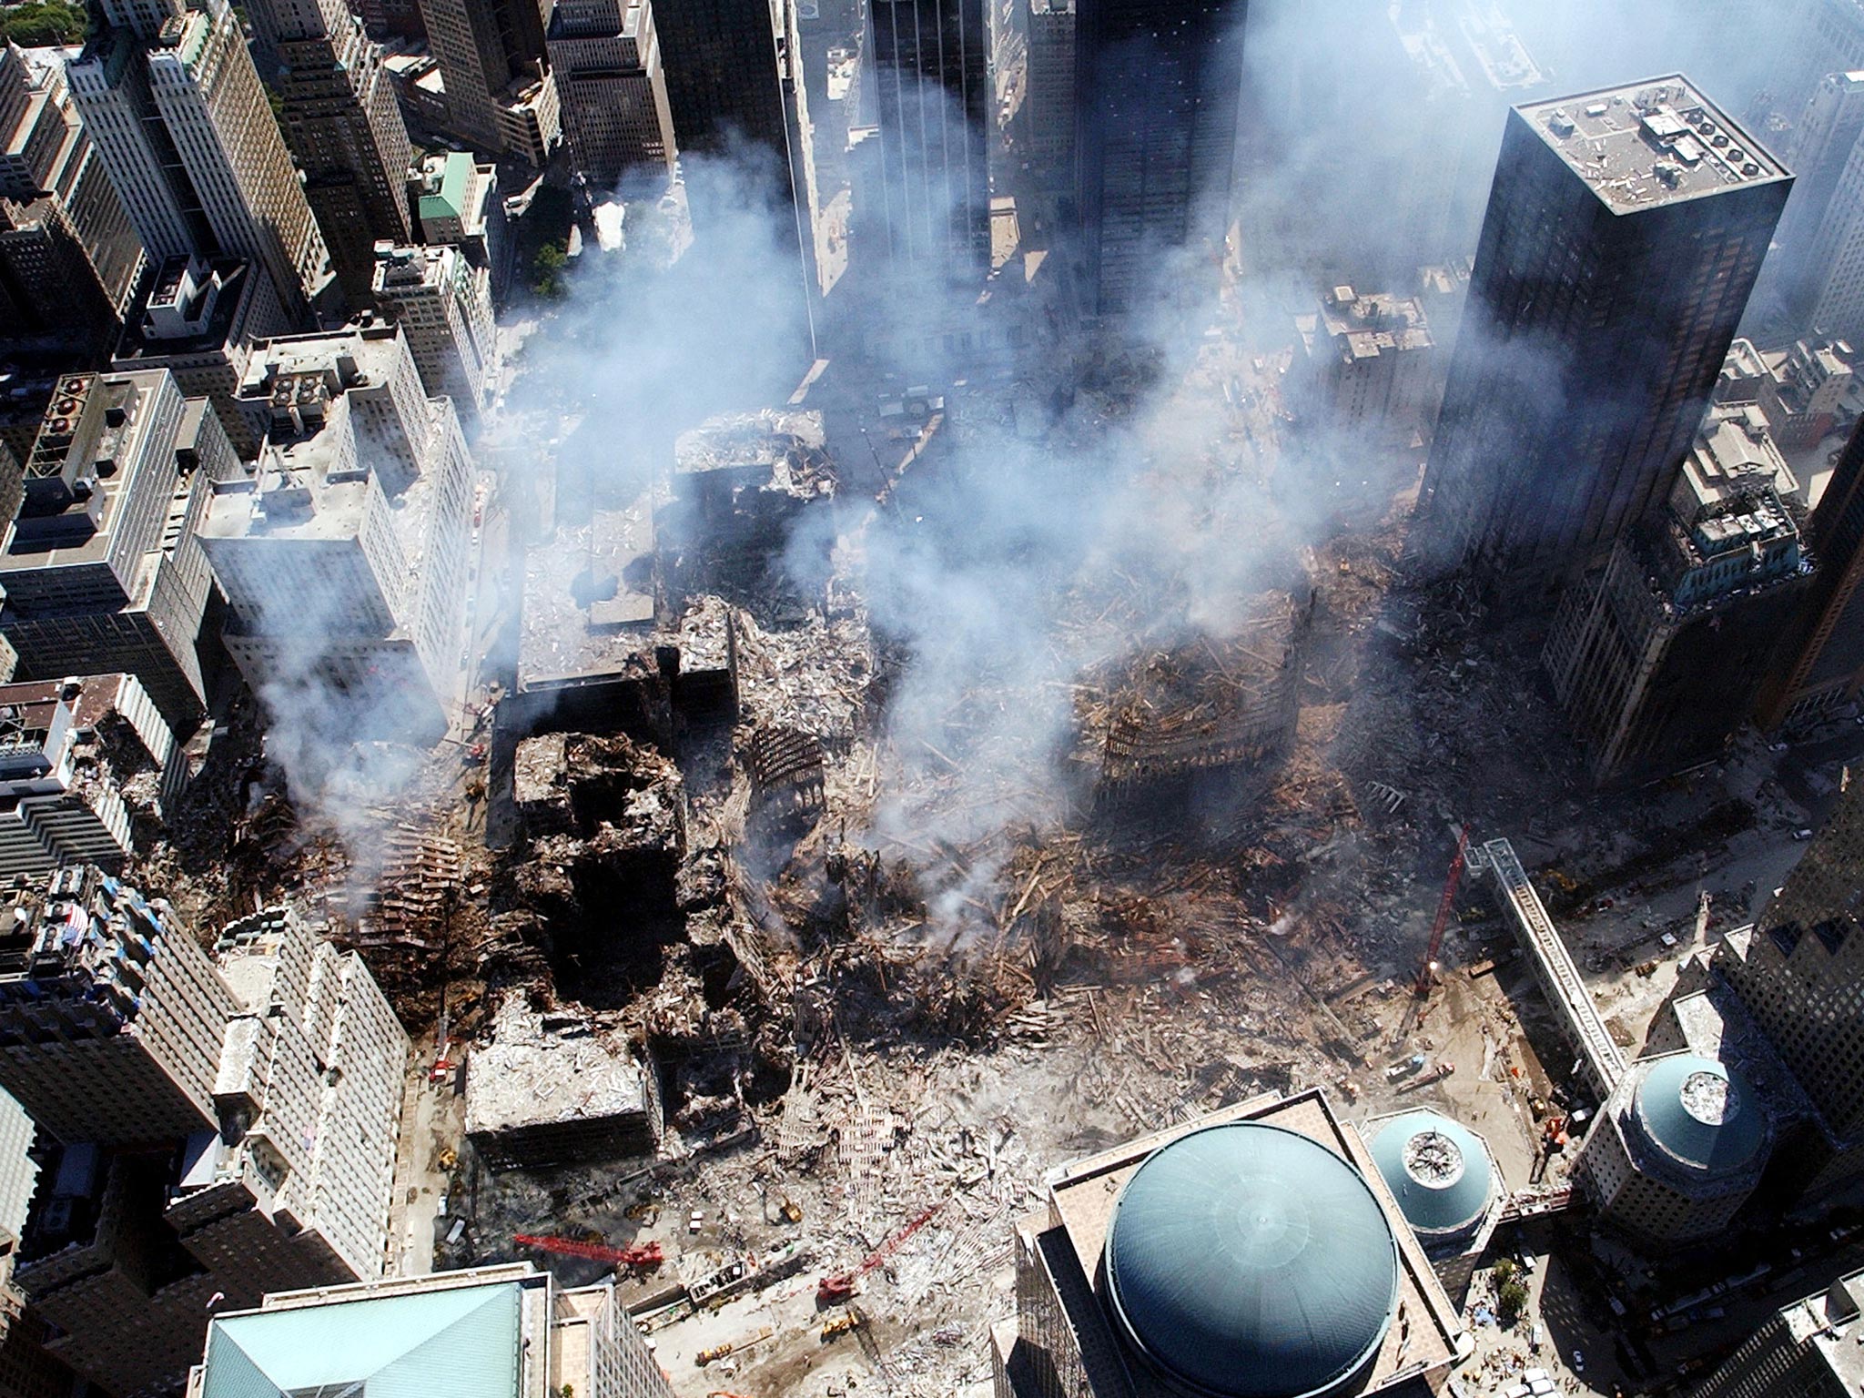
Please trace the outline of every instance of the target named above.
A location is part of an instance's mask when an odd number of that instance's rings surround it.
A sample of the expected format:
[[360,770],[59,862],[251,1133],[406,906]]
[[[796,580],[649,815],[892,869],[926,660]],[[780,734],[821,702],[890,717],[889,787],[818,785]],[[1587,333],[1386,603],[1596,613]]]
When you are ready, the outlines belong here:
[[175,734],[134,675],[0,686],[0,878],[119,869],[183,775]]

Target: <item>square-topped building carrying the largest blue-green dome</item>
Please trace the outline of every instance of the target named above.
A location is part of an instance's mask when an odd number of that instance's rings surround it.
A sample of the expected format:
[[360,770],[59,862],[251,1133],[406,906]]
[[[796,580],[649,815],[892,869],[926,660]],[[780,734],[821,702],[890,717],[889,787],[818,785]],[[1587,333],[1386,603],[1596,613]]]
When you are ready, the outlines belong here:
[[1344,1398],[1435,1387],[1473,1340],[1318,1090],[1225,1107],[1048,1176],[1016,1228],[997,1398]]

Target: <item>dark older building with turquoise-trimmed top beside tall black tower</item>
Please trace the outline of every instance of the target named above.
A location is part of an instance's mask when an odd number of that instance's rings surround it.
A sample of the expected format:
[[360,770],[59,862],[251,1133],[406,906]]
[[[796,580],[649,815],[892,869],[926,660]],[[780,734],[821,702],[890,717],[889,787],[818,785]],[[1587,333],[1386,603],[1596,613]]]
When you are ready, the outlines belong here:
[[1711,759],[1752,710],[1814,574],[1763,444],[1711,412],[1666,505],[1560,598],[1543,662],[1594,781]]

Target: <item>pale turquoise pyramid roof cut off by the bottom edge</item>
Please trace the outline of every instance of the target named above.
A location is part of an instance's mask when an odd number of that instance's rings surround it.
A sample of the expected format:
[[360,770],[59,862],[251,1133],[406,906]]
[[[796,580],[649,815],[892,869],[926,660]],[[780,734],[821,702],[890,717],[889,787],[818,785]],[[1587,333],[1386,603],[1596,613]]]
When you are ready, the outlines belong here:
[[201,1398],[516,1398],[520,1294],[511,1281],[226,1316]]

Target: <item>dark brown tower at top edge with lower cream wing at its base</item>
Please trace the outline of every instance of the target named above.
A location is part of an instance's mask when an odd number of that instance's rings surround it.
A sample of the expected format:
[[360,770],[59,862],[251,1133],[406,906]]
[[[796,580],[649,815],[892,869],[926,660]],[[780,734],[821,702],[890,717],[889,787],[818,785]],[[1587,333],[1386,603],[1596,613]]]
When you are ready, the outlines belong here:
[[427,41],[447,84],[447,114],[475,149],[542,164],[561,138],[544,67],[548,0],[425,0]]

